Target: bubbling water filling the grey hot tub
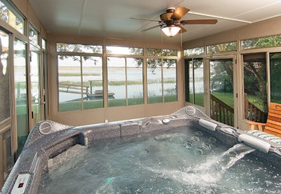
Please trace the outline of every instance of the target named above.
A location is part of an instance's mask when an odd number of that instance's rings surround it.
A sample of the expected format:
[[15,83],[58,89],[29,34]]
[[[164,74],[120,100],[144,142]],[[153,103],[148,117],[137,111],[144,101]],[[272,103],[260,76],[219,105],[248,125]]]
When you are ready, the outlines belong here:
[[[270,168],[251,156],[244,159],[251,151],[254,149],[244,144],[229,148],[206,132],[185,127],[150,137],[138,135],[121,141],[97,142],[86,152],[50,169],[41,181],[39,193],[58,190],[60,193],[229,193],[231,190],[274,193],[279,190],[280,169]],[[257,171],[256,167],[261,170]],[[245,174],[244,169],[249,172]],[[260,186],[264,183],[270,188]]]

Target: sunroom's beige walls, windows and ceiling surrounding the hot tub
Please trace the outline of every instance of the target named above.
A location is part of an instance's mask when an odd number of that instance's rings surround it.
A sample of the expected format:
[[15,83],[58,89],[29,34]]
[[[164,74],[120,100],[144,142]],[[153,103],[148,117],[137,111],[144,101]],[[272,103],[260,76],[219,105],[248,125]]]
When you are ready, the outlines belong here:
[[[281,3],[223,4],[0,0],[0,186],[41,120],[89,125],[192,104],[239,129],[266,122],[281,103]],[[166,36],[159,15],[171,7],[190,9],[176,20],[217,22],[177,21]]]

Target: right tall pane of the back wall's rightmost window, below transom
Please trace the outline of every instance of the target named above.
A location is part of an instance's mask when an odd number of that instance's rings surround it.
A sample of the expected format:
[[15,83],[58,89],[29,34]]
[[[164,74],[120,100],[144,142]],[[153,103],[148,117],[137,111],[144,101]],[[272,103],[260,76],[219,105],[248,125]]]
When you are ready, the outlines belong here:
[[163,60],[164,102],[177,101],[176,60]]

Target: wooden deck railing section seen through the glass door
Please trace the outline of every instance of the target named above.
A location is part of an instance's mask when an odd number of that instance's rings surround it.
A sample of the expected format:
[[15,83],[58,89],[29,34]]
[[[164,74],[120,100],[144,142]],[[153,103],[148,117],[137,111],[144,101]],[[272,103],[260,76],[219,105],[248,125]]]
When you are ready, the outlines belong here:
[[234,109],[211,95],[211,118],[226,125],[234,126]]

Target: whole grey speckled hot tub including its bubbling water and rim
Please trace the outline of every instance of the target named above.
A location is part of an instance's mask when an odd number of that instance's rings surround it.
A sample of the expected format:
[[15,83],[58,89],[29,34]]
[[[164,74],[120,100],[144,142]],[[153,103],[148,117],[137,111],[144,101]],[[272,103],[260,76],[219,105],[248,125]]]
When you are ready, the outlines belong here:
[[[22,163],[29,158],[30,165]],[[22,183],[26,193],[278,193],[279,161],[280,144],[193,106],[80,127],[45,121],[30,134],[2,192]]]

